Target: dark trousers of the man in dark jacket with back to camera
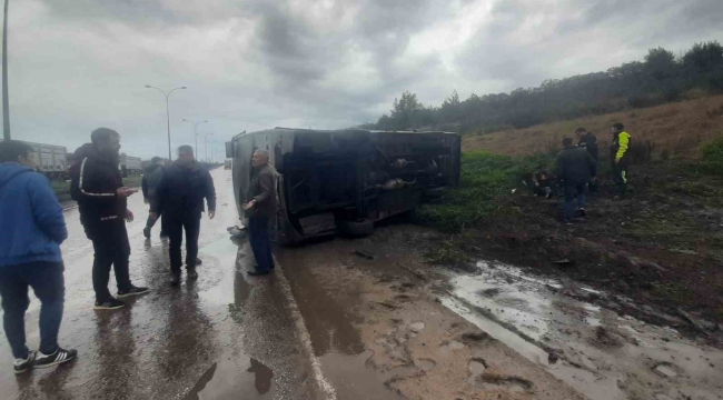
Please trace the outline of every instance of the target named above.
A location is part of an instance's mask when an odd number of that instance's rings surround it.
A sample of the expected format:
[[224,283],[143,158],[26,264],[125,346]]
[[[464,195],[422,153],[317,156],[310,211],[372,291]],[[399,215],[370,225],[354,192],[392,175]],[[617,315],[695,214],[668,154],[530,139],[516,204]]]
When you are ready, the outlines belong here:
[[186,268],[196,268],[196,258],[198,258],[198,233],[201,228],[200,212],[194,216],[166,216],[168,233],[168,258],[170,258],[170,270],[174,273],[180,273],[181,251],[184,242],[184,230],[186,231]]

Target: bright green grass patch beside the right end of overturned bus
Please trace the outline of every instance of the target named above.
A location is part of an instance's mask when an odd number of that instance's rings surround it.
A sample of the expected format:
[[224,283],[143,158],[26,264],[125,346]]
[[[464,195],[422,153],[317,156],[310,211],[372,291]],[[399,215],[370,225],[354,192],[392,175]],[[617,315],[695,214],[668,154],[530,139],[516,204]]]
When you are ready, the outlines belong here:
[[462,157],[462,182],[452,189],[442,204],[425,204],[419,220],[443,232],[460,232],[494,216],[512,212],[503,199],[512,189],[529,180],[539,167],[554,167],[554,157],[508,157],[487,152],[465,153]]

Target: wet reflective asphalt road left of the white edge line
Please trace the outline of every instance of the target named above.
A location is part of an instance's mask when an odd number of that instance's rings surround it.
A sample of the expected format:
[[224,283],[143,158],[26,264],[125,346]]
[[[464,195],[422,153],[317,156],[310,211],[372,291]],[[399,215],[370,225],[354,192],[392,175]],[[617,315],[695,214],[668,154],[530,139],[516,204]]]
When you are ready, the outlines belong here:
[[[248,241],[232,241],[226,232],[238,222],[230,172],[217,169],[211,174],[218,208],[216,219],[205,214],[201,222],[200,278],[180,288],[168,284],[167,243],[158,238],[160,227],[146,240],[148,208],[140,193],[129,199],[136,216],[128,224],[131,279],[152,292],[128,301],[121,310],[92,309],[92,246],[78,210],[66,210],[69,239],[62,246],[66,311],[60,346],[78,349],[79,358],[57,369],[16,377],[3,333],[0,398],[319,398],[298,333],[299,318],[289,312],[285,279],[246,276],[252,262]],[[115,293],[113,278],[110,288]],[[30,348],[39,342],[39,306],[31,294],[26,317]]]

